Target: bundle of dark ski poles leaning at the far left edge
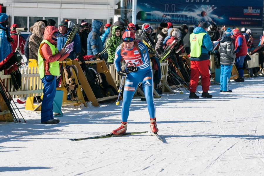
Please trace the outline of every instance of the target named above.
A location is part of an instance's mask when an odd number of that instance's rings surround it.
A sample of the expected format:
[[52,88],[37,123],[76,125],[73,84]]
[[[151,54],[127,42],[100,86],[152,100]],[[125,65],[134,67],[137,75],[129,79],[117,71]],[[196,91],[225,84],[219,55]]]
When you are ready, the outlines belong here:
[[[4,88],[6,89],[6,91],[4,90]],[[12,116],[13,116],[14,122],[15,122],[15,123],[17,123],[17,122],[21,122],[20,119],[19,119],[19,117],[18,117],[18,114],[17,114],[16,111],[15,111],[14,106],[12,105],[11,100],[8,98],[8,97],[11,98],[11,95],[10,95],[10,93],[8,92],[6,86],[4,85],[4,83],[3,83],[3,81],[2,81],[1,78],[0,78],[0,93],[1,93],[2,97],[4,98],[4,101],[6,102],[6,105],[8,106],[8,109],[9,109],[10,113],[11,113]],[[7,95],[7,93],[9,94],[9,96]],[[11,99],[12,99],[13,103],[14,103],[15,106],[16,106],[16,103],[15,103],[15,101],[13,100],[13,98],[11,98]],[[11,107],[11,106],[12,106],[12,107]],[[14,109],[14,111],[13,111],[12,108]],[[24,122],[26,123],[26,120],[25,120],[24,117],[22,116],[22,114],[21,114],[21,112],[19,111],[19,109],[18,109],[17,106],[16,106],[16,109],[18,110],[18,112],[20,113],[20,115],[21,115],[21,117],[23,118]],[[16,114],[15,114],[14,112],[15,112]],[[19,121],[16,119],[16,117],[18,118]]]

